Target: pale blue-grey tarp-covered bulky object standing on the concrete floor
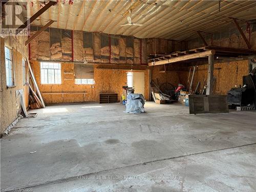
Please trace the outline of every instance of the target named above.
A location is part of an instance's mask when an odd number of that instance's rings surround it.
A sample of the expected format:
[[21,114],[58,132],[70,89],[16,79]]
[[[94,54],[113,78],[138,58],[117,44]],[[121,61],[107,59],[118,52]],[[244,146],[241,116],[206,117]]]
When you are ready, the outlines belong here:
[[125,113],[139,114],[144,113],[144,97],[142,94],[130,93],[127,95],[127,103]]

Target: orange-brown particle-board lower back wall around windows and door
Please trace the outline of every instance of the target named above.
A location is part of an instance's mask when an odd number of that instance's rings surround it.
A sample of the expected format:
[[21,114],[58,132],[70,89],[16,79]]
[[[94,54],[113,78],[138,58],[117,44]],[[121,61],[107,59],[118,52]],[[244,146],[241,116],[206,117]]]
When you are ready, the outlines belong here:
[[[130,70],[105,69],[107,65],[94,65],[94,84],[75,84],[74,63],[61,63],[61,84],[41,84],[40,62],[30,62],[39,90],[46,103],[67,102],[98,102],[99,93],[118,93],[120,100],[122,86],[126,85],[127,75]],[[99,69],[102,68],[102,69]],[[145,69],[145,68],[144,68]],[[148,74],[147,70],[133,70],[133,72],[145,72],[144,96],[147,99]],[[64,94],[56,94],[64,93]],[[86,93],[86,94],[84,94]]]

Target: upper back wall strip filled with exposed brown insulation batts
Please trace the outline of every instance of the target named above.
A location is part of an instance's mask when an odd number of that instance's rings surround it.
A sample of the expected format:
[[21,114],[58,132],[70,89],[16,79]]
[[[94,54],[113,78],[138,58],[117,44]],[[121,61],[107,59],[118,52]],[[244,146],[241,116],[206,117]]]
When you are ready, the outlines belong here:
[[[40,27],[31,26],[31,35]],[[184,50],[185,41],[47,28],[29,44],[31,60],[147,64],[147,56]]]

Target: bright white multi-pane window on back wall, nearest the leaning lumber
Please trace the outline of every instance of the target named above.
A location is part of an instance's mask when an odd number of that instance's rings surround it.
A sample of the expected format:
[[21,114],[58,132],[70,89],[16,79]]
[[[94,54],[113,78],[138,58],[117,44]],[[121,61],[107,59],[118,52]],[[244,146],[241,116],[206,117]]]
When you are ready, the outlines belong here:
[[41,83],[61,84],[60,63],[41,62]]

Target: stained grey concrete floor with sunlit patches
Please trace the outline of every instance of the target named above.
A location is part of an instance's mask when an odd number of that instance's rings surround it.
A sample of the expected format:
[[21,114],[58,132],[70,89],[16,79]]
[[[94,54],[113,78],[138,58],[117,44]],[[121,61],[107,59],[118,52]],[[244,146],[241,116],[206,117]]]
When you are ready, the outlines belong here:
[[[189,115],[179,103],[52,105],[1,139],[1,188],[256,191],[256,111]],[[36,153],[30,153],[35,152]]]

